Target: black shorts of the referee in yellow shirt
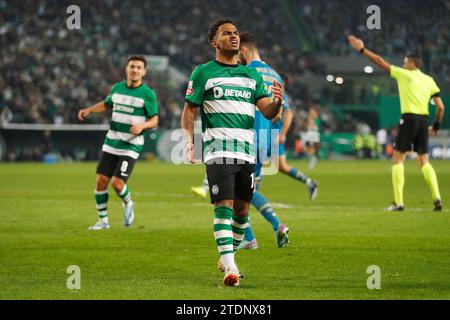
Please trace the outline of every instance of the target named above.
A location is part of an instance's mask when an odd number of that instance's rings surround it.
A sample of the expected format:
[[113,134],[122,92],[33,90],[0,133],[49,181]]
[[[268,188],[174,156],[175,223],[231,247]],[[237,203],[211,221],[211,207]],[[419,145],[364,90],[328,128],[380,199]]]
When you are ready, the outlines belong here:
[[411,150],[420,155],[428,153],[428,116],[402,114],[394,149],[402,153]]

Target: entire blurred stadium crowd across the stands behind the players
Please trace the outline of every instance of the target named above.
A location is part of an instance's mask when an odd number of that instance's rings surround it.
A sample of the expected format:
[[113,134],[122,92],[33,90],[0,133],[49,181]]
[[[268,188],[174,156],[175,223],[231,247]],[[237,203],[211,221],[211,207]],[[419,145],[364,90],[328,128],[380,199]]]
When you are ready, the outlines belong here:
[[[122,79],[129,54],[167,55],[186,76],[195,65],[213,58],[206,30],[221,16],[258,34],[265,48],[262,56],[276,69],[289,71],[295,106],[305,110],[313,95],[302,76],[323,72],[314,55],[353,54],[343,39],[355,30],[386,55],[420,49],[426,67],[448,79],[450,21],[436,17],[450,10],[450,1],[377,3],[382,19],[397,21],[383,23],[382,31],[367,31],[365,19],[361,20],[366,15],[355,13],[355,6],[364,12],[370,1],[291,1],[290,9],[295,9],[301,26],[309,26],[304,31],[312,37],[312,51],[304,52],[289,23],[293,12],[275,0],[233,5],[203,0],[80,2],[80,30],[66,28],[66,8],[72,4],[68,1],[0,0],[0,108],[12,110],[14,122],[77,123],[77,109],[102,99],[110,85]],[[185,88],[175,85],[167,73],[150,70],[150,74],[147,82],[158,93],[161,106],[160,127],[177,127]]]

